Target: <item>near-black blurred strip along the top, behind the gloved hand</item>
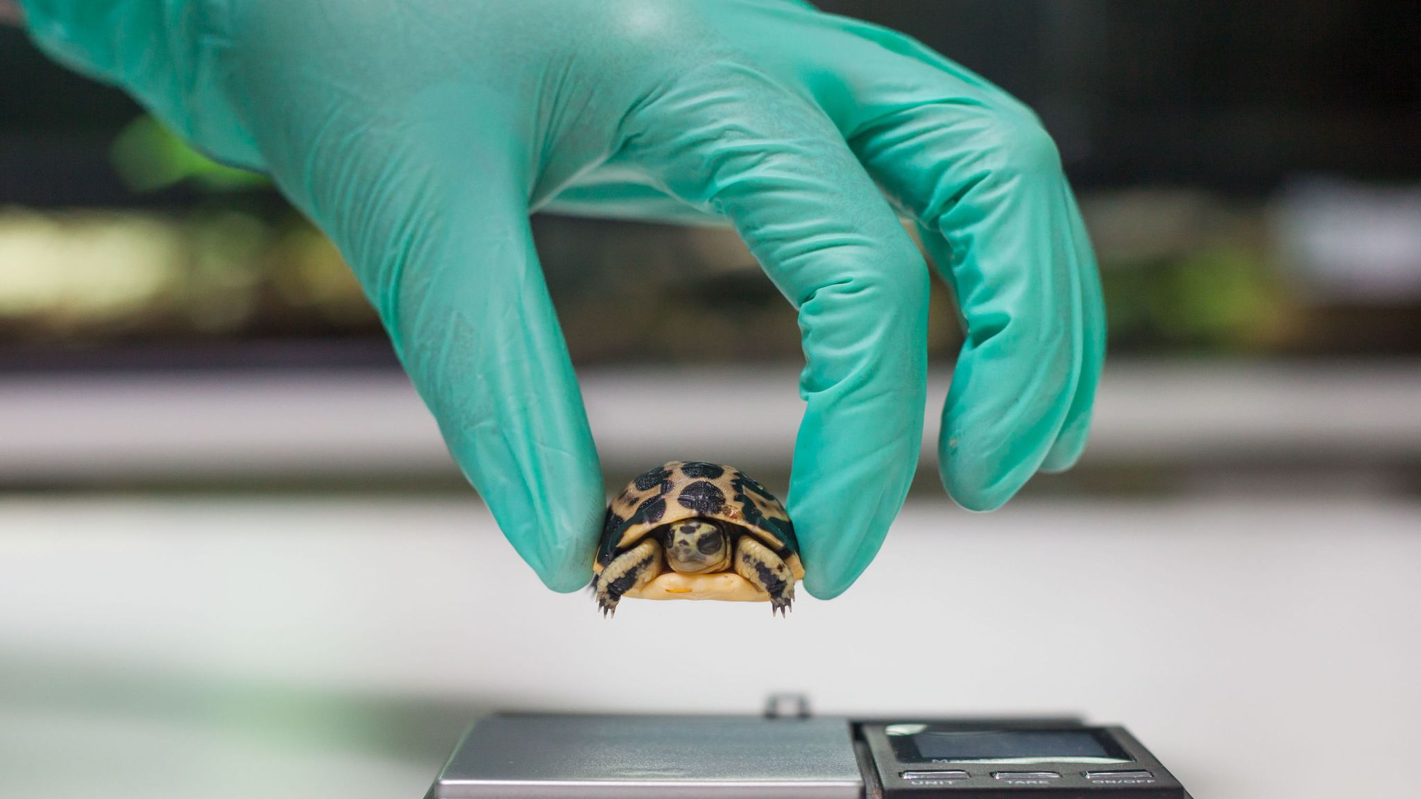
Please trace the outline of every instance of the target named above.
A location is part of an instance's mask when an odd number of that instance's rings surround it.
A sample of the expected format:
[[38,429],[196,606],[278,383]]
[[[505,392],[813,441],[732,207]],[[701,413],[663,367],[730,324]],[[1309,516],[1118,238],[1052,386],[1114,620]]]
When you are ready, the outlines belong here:
[[[1043,117],[1083,191],[1262,195],[1290,175],[1421,178],[1421,4],[826,0],[919,38]],[[0,199],[152,205],[108,148],[141,108],[0,28]]]

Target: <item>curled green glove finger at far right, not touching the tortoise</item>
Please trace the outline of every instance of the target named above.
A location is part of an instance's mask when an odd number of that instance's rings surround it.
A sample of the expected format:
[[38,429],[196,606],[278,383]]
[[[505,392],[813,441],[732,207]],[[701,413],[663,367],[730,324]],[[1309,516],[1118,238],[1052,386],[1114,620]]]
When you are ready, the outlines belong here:
[[1087,323],[1098,299],[1086,294],[1098,283],[1034,117],[990,88],[951,77],[934,85],[936,100],[877,115],[851,144],[919,220],[956,293],[966,341],[942,411],[939,469],[959,505],[990,510],[1046,463],[1063,431],[1054,465],[1083,446],[1103,354],[1100,320]]

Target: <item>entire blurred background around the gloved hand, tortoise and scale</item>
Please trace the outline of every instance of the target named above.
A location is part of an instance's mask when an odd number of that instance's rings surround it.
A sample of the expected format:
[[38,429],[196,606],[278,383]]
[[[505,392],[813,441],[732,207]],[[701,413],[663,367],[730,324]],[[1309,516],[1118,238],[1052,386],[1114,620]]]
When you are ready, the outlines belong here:
[[[776,626],[544,591],[331,245],[0,27],[0,795],[418,796],[493,708],[772,690],[1124,722],[1196,796],[1334,795],[1300,752],[1403,795],[1370,763],[1421,749],[1421,6],[818,4],[1037,109],[1110,360],[1083,462],[966,513],[935,284],[918,485],[853,591]],[[534,230],[608,485],[705,458],[783,490],[799,334],[736,237]],[[632,414],[688,381],[701,415]],[[688,695],[595,654],[735,626],[783,668]]]

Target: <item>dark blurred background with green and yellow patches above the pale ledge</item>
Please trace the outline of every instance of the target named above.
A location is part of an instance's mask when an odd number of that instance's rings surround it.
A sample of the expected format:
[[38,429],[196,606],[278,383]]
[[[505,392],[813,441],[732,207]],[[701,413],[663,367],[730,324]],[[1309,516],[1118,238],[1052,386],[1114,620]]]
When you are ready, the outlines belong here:
[[[1316,212],[1319,182],[1323,208],[1360,208],[1357,230],[1334,236],[1366,243],[1377,237],[1368,220],[1397,208],[1421,227],[1408,193],[1421,181],[1421,4],[820,7],[907,31],[1037,109],[1096,239],[1114,355],[1421,353],[1421,245],[1403,243],[1417,252],[1400,267],[1387,262],[1412,274],[1397,289],[1336,257],[1309,270],[1289,240]],[[142,121],[139,107],[53,64],[18,28],[0,28],[0,208],[58,220],[60,236],[90,230],[94,213],[156,220],[183,253],[165,264],[168,283],[122,316],[94,317],[58,290],[50,306],[0,301],[0,368],[392,363],[358,287],[330,269],[338,254],[313,243],[270,188],[186,179],[135,191],[114,152]],[[534,229],[580,364],[799,357],[793,311],[728,233],[560,218]],[[244,252],[232,254],[237,240]],[[216,303],[237,283],[240,310],[190,318],[193,297]],[[722,334],[662,336],[672,313]],[[941,286],[932,318],[932,357],[951,360],[961,331]]]

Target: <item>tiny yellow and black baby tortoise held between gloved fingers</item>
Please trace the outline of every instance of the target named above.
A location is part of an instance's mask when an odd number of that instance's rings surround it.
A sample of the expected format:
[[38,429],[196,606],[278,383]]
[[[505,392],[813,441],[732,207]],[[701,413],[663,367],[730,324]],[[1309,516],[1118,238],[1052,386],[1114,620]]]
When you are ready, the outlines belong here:
[[612,499],[593,572],[603,616],[624,596],[767,600],[784,616],[804,577],[784,505],[745,472],[702,461],[657,466]]

